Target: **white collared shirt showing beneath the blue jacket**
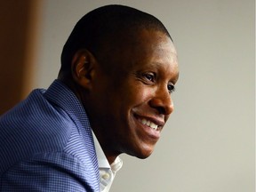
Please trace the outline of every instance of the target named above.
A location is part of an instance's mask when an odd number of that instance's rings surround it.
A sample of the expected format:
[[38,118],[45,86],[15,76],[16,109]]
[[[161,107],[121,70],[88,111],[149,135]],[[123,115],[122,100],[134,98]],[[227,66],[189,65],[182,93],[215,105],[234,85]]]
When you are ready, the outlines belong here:
[[112,164],[108,164],[108,159],[93,132],[92,136],[100,170],[100,191],[108,192],[115,179],[116,172],[118,172],[123,166],[123,161],[119,156],[117,156],[116,160]]

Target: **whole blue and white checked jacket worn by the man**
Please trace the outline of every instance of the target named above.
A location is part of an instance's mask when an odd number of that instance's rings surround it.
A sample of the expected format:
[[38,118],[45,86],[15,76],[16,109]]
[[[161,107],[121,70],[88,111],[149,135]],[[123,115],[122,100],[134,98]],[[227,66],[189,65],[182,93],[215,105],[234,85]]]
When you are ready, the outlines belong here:
[[59,80],[0,117],[0,191],[100,191],[88,117]]

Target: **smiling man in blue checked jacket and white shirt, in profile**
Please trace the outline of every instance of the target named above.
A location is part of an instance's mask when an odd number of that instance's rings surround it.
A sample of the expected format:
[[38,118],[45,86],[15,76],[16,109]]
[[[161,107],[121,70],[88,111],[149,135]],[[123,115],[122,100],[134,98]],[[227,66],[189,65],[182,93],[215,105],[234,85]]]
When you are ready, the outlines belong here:
[[87,13],[64,45],[58,79],[1,116],[1,191],[108,191],[120,154],[152,153],[178,75],[155,17],[122,5]]

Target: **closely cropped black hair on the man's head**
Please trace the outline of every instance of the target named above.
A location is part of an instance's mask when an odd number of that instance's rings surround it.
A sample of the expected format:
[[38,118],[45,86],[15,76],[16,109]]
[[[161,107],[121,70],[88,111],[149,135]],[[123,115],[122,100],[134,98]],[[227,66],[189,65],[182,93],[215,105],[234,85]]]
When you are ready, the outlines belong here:
[[63,47],[60,71],[70,70],[72,58],[78,50],[87,49],[97,58],[107,41],[122,41],[122,39],[116,40],[117,34],[126,32],[129,35],[127,31],[138,31],[142,28],[161,31],[172,40],[160,20],[132,7],[111,4],[88,12],[78,20]]

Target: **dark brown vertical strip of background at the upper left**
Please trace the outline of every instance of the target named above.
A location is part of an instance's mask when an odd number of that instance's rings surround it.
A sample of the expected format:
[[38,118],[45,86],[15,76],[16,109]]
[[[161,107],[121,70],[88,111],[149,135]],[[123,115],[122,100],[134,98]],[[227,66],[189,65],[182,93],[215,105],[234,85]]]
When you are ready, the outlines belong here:
[[0,6],[0,115],[20,100],[28,78],[33,0],[5,0]]

